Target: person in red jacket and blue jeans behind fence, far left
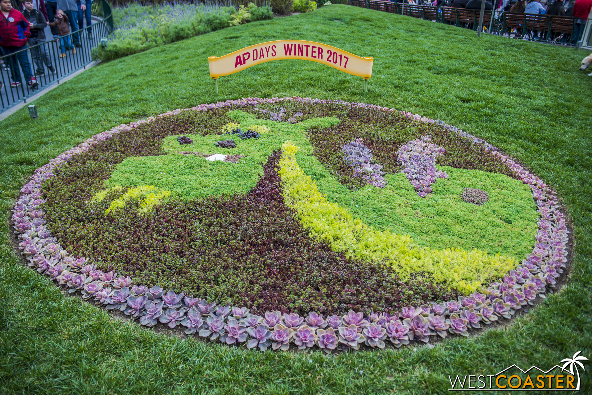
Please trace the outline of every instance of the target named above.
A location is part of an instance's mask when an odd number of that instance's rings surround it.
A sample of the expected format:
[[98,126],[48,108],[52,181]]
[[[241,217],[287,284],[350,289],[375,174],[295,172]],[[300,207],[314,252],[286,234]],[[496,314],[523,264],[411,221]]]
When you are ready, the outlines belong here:
[[[27,40],[30,34],[29,23],[21,12],[12,8],[10,0],[0,0],[0,47],[2,47],[4,54],[11,54],[27,48]],[[10,86],[21,85],[19,63],[29,88],[36,88],[39,85],[31,74],[31,64],[27,57],[27,51],[19,52],[6,59],[10,65],[10,76],[12,78]]]

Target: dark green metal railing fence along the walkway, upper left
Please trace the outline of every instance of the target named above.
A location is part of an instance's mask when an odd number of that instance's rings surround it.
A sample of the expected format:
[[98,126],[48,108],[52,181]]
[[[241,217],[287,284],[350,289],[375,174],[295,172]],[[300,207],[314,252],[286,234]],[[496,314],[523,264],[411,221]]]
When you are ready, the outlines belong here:
[[102,20],[59,38],[48,37],[43,43],[1,53],[0,112],[27,102],[27,98],[92,62],[92,48],[112,33],[113,17],[105,0],[94,0],[91,13]]

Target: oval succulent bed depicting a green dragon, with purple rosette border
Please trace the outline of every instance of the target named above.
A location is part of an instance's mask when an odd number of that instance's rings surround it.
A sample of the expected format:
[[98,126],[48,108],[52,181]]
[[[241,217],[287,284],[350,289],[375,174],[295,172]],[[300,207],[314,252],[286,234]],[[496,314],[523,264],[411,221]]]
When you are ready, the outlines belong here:
[[542,180],[442,121],[364,103],[168,112],[93,136],[21,192],[13,227],[38,273],[247,348],[467,335],[544,297],[567,261]]

